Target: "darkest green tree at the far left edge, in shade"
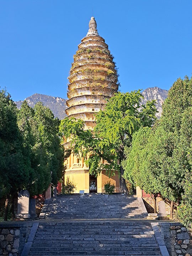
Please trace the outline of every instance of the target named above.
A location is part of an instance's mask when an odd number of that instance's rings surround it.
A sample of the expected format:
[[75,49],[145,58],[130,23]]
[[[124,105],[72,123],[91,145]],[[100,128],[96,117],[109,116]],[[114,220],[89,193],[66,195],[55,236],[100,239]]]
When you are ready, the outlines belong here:
[[14,197],[25,188],[29,179],[29,162],[25,158],[23,138],[17,126],[17,107],[6,91],[0,91],[0,192],[6,197],[5,220],[8,202],[12,201],[14,216]]

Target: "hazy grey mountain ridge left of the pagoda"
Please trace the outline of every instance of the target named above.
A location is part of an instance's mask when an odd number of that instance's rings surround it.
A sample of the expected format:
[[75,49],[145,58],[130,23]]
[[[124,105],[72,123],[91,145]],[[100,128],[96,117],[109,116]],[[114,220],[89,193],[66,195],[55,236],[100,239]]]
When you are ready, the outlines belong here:
[[[54,117],[58,117],[59,119],[63,119],[66,117],[65,107],[66,100],[59,97],[48,96],[44,94],[33,94],[30,97],[25,99],[30,107],[34,107],[34,105],[41,101],[44,106],[50,108],[52,110]],[[18,108],[21,108],[23,101],[16,101]]]

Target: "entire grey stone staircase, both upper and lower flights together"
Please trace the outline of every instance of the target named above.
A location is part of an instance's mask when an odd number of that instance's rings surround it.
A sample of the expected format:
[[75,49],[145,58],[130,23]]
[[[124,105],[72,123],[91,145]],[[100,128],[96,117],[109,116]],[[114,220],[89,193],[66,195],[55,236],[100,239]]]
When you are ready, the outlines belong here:
[[135,196],[58,196],[44,212],[30,256],[161,256]]

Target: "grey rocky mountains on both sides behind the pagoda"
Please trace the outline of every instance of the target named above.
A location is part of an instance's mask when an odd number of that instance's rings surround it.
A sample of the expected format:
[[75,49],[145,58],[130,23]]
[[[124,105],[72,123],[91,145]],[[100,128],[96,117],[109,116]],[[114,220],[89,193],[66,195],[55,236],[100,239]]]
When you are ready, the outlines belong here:
[[[167,97],[167,90],[160,89],[159,87],[150,87],[145,89],[142,94],[144,99],[142,100],[142,104],[145,104],[148,100],[156,100],[157,110],[157,117],[160,118],[162,112],[162,103]],[[34,105],[41,101],[44,106],[49,107],[54,116],[58,117],[59,119],[63,119],[65,114],[65,107],[66,107],[66,100],[59,97],[48,96],[44,94],[33,94],[30,97],[25,99],[30,107],[34,107]],[[23,101],[16,101],[17,107],[20,108]]]

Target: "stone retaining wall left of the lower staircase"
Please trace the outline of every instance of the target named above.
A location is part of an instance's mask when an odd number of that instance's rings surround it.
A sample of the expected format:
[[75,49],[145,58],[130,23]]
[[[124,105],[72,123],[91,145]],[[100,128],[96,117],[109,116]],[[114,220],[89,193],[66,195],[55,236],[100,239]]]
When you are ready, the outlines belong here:
[[0,223],[0,255],[19,256],[30,234],[32,222]]

